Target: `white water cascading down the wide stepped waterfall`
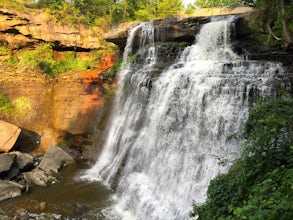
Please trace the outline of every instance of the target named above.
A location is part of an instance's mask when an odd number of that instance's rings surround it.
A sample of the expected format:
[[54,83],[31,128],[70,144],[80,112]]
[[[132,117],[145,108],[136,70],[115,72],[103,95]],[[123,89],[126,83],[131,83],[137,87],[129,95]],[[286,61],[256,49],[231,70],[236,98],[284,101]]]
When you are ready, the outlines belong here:
[[[126,62],[138,31],[139,67]],[[227,169],[217,157],[237,157],[240,143],[226,138],[240,130],[249,100],[271,94],[269,82],[282,73],[276,63],[242,60],[230,47],[230,22],[216,21],[154,79],[153,33],[151,23],[130,33],[107,141],[82,177],[115,186],[117,219],[188,219],[192,202],[203,202],[209,181]]]

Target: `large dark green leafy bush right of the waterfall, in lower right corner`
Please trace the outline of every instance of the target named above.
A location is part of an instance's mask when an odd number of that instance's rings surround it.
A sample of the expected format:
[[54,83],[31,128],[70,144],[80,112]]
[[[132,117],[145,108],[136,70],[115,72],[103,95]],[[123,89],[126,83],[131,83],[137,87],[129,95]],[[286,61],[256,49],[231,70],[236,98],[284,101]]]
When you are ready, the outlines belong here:
[[194,204],[199,219],[293,219],[293,98],[260,100],[243,129],[241,157]]

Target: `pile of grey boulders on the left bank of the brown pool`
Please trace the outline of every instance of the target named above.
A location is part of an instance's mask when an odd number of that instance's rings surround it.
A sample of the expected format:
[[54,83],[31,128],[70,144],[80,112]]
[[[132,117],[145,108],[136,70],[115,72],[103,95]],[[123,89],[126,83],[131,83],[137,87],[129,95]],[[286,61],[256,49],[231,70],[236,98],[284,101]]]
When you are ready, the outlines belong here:
[[[0,161],[0,202],[27,194],[37,186],[45,187],[59,182],[57,174],[61,169],[75,163],[73,157],[58,146],[51,146],[44,156],[19,151],[2,153]],[[40,203],[39,209],[44,208],[45,203]],[[21,219],[27,219],[28,216],[25,209],[16,210],[13,215],[23,217]],[[0,219],[7,217],[10,219],[11,213],[0,210]]]

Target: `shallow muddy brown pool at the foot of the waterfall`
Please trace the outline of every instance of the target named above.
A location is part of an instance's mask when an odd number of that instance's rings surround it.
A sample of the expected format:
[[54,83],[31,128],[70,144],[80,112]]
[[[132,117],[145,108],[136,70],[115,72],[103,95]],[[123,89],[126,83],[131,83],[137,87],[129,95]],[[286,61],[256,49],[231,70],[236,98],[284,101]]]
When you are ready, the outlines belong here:
[[[62,219],[104,219],[102,209],[111,205],[112,191],[99,182],[76,181],[87,165],[76,163],[66,167],[59,179],[48,187],[37,187],[21,197],[6,200],[0,207],[7,215],[25,209],[29,213],[50,213]],[[40,203],[45,202],[41,210]]]

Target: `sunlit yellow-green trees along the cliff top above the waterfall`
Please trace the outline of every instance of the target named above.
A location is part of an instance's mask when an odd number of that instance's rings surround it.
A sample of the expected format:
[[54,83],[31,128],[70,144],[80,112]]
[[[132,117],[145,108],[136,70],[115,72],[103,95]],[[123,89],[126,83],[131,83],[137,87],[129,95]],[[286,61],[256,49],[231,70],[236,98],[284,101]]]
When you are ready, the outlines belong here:
[[62,24],[101,24],[102,27],[130,20],[176,16],[183,9],[182,0],[39,0],[29,5],[45,9]]

